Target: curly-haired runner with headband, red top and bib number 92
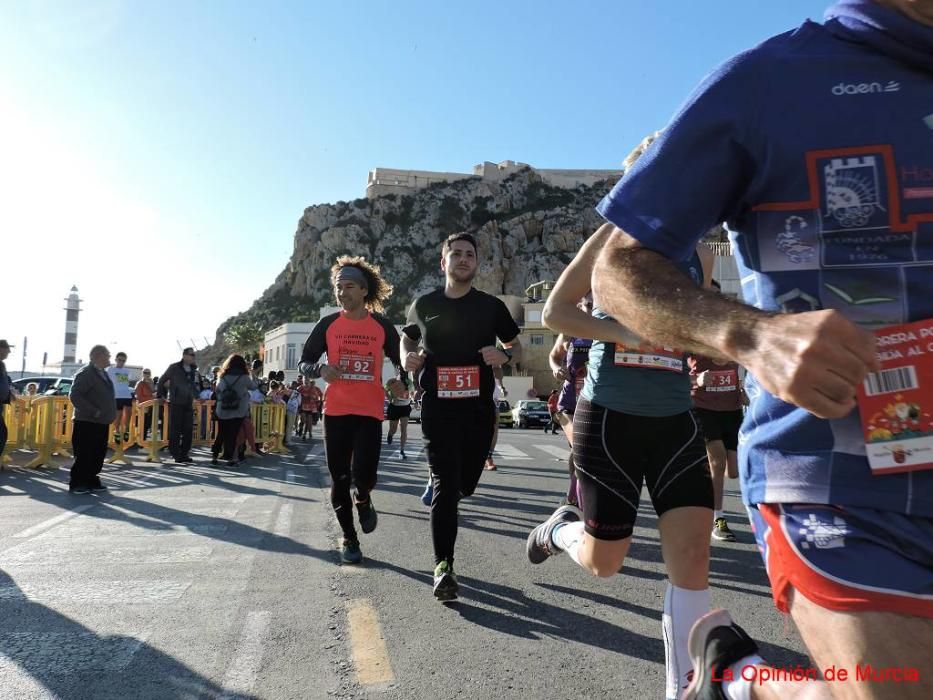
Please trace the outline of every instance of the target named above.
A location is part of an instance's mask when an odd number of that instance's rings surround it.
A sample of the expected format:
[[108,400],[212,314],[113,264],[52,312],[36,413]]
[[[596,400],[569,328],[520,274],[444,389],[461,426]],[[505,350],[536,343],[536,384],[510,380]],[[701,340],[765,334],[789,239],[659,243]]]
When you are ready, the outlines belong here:
[[[343,530],[343,561],[362,561],[353,523],[353,503],[364,533],[376,529],[370,492],[382,446],[382,364],[388,357],[398,372],[387,386],[401,396],[408,374],[399,359],[399,336],[377,313],[392,293],[379,269],[365,258],[342,256],[331,268],[334,295],[341,310],[322,318],[301,354],[299,371],[327,382],[324,392],[324,453],[331,476],[330,498]],[[324,363],[315,364],[327,354]],[[350,484],[356,486],[351,500]]]

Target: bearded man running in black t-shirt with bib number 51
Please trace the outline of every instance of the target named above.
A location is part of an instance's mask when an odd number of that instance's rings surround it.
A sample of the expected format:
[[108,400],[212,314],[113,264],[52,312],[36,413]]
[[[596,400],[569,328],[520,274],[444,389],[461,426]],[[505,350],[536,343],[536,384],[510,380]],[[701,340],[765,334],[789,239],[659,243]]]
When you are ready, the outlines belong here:
[[[453,600],[458,589],[453,571],[457,502],[476,489],[492,443],[492,368],[520,360],[521,345],[505,304],[473,289],[477,260],[472,236],[454,234],[444,241],[441,269],[444,288],[411,305],[402,354],[405,369],[416,372],[424,390],[421,430],[434,483],[434,596]],[[497,339],[505,350],[496,347]]]

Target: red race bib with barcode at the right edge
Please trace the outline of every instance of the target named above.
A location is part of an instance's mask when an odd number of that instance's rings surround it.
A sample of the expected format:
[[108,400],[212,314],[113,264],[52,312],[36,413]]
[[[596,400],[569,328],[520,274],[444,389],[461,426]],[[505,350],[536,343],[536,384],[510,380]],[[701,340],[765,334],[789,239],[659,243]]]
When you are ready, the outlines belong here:
[[874,474],[933,469],[933,319],[875,331],[881,371],[858,389]]

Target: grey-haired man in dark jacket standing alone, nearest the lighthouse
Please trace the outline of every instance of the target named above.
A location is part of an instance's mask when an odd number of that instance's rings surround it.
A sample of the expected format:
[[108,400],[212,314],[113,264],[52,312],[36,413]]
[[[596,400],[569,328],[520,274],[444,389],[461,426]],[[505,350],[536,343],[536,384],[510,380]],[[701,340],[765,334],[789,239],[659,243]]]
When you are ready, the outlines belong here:
[[103,345],[91,348],[91,362],[75,375],[71,385],[74,406],[74,428],[71,446],[75,461],[71,466],[71,493],[106,491],[100,481],[107,456],[107,435],[117,416],[113,382],[104,371],[110,365],[110,351]]

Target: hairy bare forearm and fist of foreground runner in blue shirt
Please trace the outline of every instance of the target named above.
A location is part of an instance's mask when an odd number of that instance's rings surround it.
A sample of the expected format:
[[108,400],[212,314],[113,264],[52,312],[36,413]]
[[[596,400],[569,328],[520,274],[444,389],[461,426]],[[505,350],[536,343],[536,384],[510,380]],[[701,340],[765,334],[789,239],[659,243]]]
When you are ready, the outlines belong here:
[[664,256],[614,229],[593,270],[601,308],[639,335],[745,366],[769,392],[821,418],[855,407],[877,371],[874,336],[837,311],[759,311],[696,287]]

